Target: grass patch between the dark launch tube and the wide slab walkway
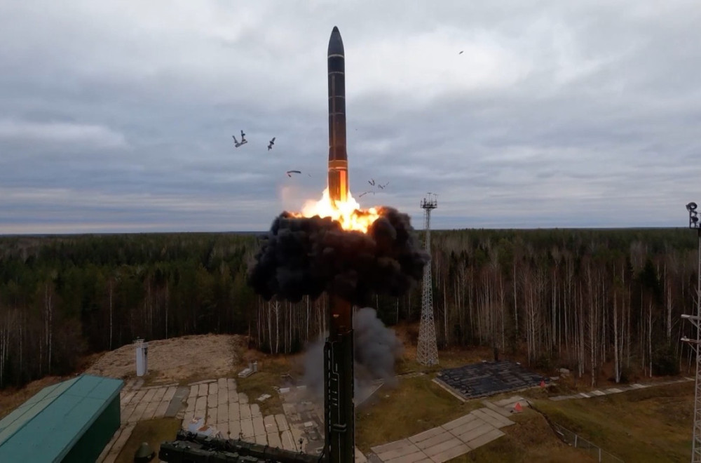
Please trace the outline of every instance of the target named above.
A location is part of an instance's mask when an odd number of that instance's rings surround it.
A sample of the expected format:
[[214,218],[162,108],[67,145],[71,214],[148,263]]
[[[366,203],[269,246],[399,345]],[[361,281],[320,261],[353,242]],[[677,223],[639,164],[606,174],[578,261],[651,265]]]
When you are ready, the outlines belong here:
[[479,401],[458,401],[431,380],[431,375],[404,378],[396,387],[377,391],[370,399],[372,405],[355,414],[355,445],[369,452],[375,445],[412,436],[482,407]]

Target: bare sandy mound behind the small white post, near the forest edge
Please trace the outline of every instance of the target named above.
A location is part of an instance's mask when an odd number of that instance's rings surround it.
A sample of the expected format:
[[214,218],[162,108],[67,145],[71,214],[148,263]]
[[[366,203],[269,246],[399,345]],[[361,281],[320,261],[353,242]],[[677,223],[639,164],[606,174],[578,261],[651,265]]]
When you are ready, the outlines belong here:
[[[231,377],[238,373],[245,337],[197,335],[149,342],[150,384]],[[136,349],[128,344],[103,354],[84,373],[116,378],[136,376]]]

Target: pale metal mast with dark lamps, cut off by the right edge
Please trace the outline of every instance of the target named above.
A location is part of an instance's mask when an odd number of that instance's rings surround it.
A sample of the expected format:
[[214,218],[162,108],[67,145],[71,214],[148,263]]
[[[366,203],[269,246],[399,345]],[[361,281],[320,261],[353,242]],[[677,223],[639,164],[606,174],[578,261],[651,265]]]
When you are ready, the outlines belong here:
[[696,339],[682,337],[681,340],[688,342],[696,353],[696,386],[694,398],[694,431],[691,446],[691,463],[701,463],[701,356],[699,347],[701,346],[701,224],[699,223],[696,203],[688,203],[686,210],[689,211],[689,228],[695,229],[699,236],[699,247],[697,250],[698,274],[696,282],[696,314],[682,315],[690,321],[696,328]]

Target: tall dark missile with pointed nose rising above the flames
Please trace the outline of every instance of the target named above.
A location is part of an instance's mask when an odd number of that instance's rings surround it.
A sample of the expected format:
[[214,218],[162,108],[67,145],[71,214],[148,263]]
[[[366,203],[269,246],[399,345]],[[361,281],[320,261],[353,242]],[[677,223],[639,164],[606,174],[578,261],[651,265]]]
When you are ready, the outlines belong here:
[[346,56],[343,39],[334,27],[329,39],[329,197],[348,199],[348,154],[346,154]]

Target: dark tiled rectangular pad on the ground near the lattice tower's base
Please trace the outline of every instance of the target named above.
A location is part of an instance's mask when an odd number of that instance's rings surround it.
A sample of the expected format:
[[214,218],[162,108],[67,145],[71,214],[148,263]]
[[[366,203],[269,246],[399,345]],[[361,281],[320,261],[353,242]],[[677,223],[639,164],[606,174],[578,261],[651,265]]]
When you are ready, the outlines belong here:
[[549,378],[511,361],[482,362],[441,370],[436,380],[463,398],[475,398],[538,386]]

